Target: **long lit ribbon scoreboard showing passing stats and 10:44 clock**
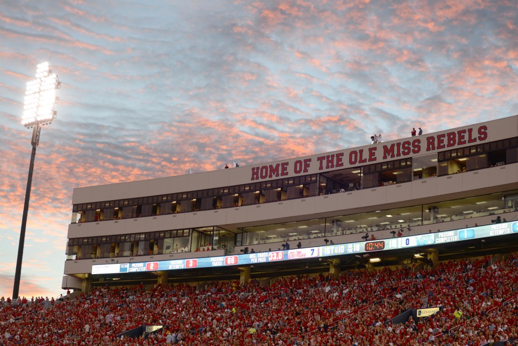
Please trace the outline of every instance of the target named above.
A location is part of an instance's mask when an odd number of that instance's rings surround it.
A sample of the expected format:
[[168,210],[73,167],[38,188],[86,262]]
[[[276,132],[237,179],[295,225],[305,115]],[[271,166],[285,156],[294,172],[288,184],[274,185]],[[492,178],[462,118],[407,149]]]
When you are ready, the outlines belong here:
[[409,237],[304,247],[293,250],[278,250],[217,257],[171,259],[153,262],[93,265],[92,274],[117,274],[140,271],[244,266],[266,262],[289,261],[293,259],[363,254],[371,251],[398,250],[405,247],[431,246],[435,244],[459,242],[468,239],[490,238],[512,233],[518,233],[518,222],[491,224],[436,233],[425,233]]

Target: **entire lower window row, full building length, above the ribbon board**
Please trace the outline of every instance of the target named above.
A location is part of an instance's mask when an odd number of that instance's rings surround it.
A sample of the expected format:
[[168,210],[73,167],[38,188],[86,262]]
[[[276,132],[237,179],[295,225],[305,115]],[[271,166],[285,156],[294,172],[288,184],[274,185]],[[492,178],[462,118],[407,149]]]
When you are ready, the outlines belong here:
[[518,189],[397,209],[245,227],[237,233],[210,227],[71,238],[68,240],[67,256],[68,259],[79,259],[193,252],[200,248],[206,250],[204,245],[207,244],[208,248],[233,248],[278,243],[272,244],[273,248],[278,248],[280,242],[299,240],[306,240],[303,246],[314,246],[323,243],[321,240],[311,240],[313,238],[342,234],[386,231],[382,232],[382,237],[390,238],[400,230],[408,235],[409,228],[421,225],[429,225],[430,230],[435,232],[448,229],[442,223],[453,220],[465,220],[467,226],[473,227],[477,217],[512,211],[518,211]]

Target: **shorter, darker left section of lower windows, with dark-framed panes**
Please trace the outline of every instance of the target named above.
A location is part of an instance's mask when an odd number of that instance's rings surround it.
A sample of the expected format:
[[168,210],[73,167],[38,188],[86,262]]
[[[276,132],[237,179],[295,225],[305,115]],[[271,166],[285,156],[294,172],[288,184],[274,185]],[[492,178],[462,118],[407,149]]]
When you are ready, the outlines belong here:
[[[234,244],[232,233],[211,228],[210,232],[182,229],[117,236],[71,238],[67,259],[114,258],[209,251],[223,244]],[[229,237],[229,235],[231,235]],[[226,243],[224,243],[226,242]]]

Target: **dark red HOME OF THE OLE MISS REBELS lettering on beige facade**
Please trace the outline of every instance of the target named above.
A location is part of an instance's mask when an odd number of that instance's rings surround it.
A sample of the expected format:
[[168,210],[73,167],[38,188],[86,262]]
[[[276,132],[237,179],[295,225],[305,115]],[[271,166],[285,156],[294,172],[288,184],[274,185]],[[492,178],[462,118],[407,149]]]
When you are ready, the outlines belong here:
[[431,151],[472,145],[487,140],[487,126],[467,128],[430,136],[416,136],[399,142],[375,144],[363,149],[348,149],[335,154],[315,156],[294,162],[285,161],[252,167],[251,181],[292,174],[306,174],[336,168],[349,168],[364,163],[373,163],[425,154]]

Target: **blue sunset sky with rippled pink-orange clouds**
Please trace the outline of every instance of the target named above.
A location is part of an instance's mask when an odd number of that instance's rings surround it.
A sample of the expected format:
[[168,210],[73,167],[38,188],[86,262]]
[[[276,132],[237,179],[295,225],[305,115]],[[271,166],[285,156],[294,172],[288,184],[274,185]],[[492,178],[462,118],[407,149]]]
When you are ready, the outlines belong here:
[[518,3],[0,0],[0,296],[59,296],[74,187],[222,169],[518,114]]

